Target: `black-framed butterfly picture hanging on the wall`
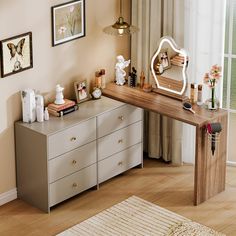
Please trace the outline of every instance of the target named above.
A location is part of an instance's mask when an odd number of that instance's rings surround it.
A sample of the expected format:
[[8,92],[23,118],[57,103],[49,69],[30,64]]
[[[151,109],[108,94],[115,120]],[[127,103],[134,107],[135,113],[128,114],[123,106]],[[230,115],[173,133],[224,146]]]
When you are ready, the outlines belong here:
[[1,77],[6,77],[33,67],[32,32],[0,42]]

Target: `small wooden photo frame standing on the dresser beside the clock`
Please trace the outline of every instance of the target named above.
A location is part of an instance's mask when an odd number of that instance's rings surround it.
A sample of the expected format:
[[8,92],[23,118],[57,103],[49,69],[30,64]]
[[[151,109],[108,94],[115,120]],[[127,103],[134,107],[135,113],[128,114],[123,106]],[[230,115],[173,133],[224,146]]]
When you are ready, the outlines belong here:
[[76,102],[81,103],[90,99],[90,95],[87,89],[87,80],[81,80],[74,82],[74,89],[76,95]]

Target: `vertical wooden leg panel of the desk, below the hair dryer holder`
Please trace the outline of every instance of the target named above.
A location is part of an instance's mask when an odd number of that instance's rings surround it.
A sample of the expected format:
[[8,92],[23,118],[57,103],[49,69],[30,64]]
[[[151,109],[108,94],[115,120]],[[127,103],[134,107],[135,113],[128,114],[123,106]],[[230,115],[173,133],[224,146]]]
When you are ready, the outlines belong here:
[[225,190],[228,116],[219,117],[213,122],[221,122],[222,125],[214,156],[211,153],[211,140],[209,140],[205,128],[196,127],[195,205]]

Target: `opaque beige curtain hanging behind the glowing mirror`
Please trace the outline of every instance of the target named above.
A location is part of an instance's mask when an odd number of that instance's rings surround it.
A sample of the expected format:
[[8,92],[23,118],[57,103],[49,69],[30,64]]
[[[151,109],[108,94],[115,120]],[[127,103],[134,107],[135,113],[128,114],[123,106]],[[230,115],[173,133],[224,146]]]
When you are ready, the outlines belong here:
[[[138,74],[151,82],[150,62],[164,35],[181,47],[184,39],[184,0],[132,0],[132,24],[140,32],[132,36],[131,62]],[[182,164],[182,123],[153,112],[145,113],[144,150],[151,158],[162,157]]]

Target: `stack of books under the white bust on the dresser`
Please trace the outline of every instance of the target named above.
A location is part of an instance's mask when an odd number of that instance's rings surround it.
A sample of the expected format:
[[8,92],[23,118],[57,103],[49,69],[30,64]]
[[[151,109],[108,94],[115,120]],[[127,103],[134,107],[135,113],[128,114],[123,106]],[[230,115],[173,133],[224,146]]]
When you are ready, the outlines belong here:
[[62,105],[57,105],[55,103],[50,103],[48,105],[48,112],[50,115],[53,116],[64,116],[66,114],[69,114],[73,111],[78,110],[78,106],[76,105],[75,101],[64,99],[65,103]]

